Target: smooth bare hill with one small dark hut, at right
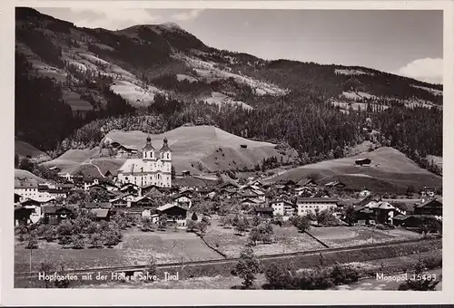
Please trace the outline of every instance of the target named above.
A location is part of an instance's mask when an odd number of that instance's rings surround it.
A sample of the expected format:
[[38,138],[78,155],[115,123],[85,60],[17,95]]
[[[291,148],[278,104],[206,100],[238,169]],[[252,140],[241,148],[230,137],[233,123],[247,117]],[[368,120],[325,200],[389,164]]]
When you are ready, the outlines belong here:
[[[355,165],[355,159],[371,159],[370,167]],[[393,148],[380,148],[344,159],[325,160],[315,164],[292,168],[271,181],[301,180],[316,176],[320,184],[341,180],[350,188],[369,188],[376,192],[405,193],[409,186],[416,189],[430,186],[439,188],[442,178],[419,168],[411,159]]]

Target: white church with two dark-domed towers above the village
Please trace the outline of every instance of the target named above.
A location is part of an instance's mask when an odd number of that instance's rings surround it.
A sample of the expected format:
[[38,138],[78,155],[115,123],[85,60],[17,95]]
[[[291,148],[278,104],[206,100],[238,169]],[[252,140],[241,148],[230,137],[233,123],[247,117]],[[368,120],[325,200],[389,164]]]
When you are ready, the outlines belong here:
[[172,187],[172,149],[163,140],[160,150],[154,149],[150,136],[143,147],[142,159],[126,159],[118,169],[118,181],[132,183],[139,187],[155,185],[160,188]]

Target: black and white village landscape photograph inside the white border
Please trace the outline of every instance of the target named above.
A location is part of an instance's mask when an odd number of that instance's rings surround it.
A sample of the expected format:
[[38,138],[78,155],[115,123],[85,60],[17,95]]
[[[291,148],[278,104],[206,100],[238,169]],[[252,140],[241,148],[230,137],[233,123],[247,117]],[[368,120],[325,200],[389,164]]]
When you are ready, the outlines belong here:
[[446,291],[443,9],[19,4],[15,289]]

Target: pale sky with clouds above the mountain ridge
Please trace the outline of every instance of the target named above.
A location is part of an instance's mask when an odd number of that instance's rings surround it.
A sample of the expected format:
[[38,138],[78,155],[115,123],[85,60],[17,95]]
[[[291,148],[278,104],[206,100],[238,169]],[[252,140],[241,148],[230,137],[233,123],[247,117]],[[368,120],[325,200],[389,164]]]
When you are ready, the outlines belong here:
[[77,26],[173,22],[203,43],[268,60],[358,65],[442,83],[443,12],[37,8]]

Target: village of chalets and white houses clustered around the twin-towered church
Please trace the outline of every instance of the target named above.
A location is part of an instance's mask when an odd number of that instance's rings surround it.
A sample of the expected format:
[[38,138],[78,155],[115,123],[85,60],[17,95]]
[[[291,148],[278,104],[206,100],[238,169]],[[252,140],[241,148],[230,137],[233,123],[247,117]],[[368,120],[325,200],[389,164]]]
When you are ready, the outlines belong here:
[[[225,220],[235,215],[276,224],[306,217],[313,226],[402,226],[424,232],[423,226],[432,226],[426,231],[438,226],[429,221],[442,220],[441,196],[430,188],[387,199],[367,188],[351,191],[341,181],[321,186],[313,178],[271,183],[259,176],[239,183],[232,178],[203,180],[188,171],[173,178],[172,149],[167,142],[164,139],[157,150],[147,138],[142,158],[129,156],[116,176],[110,171],[98,178],[64,175],[62,184],[16,178],[15,226],[56,226],[80,212],[106,221],[121,213],[134,225],[146,222],[177,228],[186,228],[191,220]],[[369,165],[370,159],[356,164]]]

